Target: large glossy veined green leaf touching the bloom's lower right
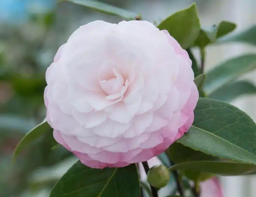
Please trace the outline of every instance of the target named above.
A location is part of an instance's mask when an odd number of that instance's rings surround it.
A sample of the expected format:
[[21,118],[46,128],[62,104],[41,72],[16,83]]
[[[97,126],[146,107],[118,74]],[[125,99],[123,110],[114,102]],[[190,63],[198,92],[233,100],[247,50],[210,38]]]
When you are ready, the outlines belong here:
[[199,98],[189,131],[177,142],[218,158],[256,164],[256,125],[228,103]]

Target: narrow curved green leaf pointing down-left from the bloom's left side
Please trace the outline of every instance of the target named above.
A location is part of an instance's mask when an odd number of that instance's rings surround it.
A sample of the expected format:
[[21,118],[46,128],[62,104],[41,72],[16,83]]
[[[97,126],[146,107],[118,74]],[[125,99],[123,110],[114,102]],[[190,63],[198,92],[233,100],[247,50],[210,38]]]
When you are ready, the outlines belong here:
[[30,130],[18,143],[14,150],[13,162],[17,155],[31,142],[39,138],[42,134],[51,131],[51,127],[48,125],[46,119],[44,119],[39,125]]

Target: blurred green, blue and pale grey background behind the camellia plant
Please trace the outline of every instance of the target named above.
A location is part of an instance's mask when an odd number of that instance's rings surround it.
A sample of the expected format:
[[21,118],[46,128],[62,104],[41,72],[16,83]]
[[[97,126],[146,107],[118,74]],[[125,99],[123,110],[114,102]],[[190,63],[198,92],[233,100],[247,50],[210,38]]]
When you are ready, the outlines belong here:
[[[103,1],[103,0],[102,0]],[[104,0],[159,23],[197,3],[202,26],[221,20],[237,23],[236,32],[256,24],[255,0]],[[48,197],[54,182],[74,163],[64,149],[52,150],[52,135],[43,135],[12,165],[13,150],[26,132],[45,116],[45,70],[58,47],[79,26],[93,21],[119,22],[83,6],[57,0],[0,0],[0,197]],[[256,35],[255,35],[256,39]],[[198,55],[198,51],[194,51]],[[206,70],[255,47],[244,44],[207,48]],[[256,83],[256,73],[245,76]],[[256,96],[232,104],[256,121]],[[61,161],[61,162],[60,162]],[[225,197],[256,196],[256,178],[221,177]]]

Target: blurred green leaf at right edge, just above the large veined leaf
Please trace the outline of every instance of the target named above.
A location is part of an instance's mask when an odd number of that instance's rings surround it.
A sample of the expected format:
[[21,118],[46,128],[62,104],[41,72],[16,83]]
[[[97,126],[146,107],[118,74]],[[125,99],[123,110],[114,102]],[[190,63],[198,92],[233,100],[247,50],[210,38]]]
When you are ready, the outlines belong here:
[[237,81],[223,85],[209,95],[209,98],[231,102],[233,99],[248,94],[255,94],[256,87],[248,81]]

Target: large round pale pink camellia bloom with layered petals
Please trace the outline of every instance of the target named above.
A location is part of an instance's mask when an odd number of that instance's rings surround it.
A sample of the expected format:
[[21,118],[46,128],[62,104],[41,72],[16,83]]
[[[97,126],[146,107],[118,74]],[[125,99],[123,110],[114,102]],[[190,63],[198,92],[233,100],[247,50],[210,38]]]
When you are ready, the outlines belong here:
[[198,91],[188,54],[147,21],[90,22],[46,71],[47,121],[92,168],[153,158],[187,132]]

